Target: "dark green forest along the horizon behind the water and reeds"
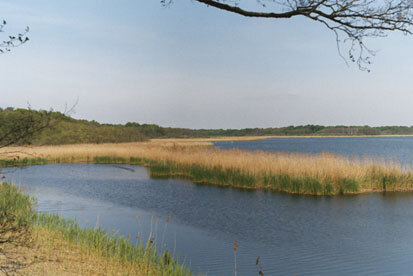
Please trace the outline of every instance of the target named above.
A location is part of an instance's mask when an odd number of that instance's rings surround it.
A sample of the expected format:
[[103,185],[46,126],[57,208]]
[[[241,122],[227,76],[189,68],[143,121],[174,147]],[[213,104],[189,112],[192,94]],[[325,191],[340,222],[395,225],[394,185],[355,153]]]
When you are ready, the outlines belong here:
[[219,136],[356,136],[356,135],[413,135],[413,126],[288,126],[279,128],[244,129],[187,129],[162,127],[155,124],[129,122],[100,124],[77,120],[60,112],[0,108],[0,137],[13,132],[28,120],[48,120],[30,140],[18,144],[57,145],[76,143],[116,143],[146,141],[151,138],[204,138]]

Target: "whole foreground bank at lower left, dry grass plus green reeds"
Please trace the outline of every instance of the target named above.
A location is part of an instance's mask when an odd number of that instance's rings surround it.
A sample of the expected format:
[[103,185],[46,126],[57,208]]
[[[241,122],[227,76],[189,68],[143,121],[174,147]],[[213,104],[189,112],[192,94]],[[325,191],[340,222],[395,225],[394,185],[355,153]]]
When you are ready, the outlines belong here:
[[130,241],[100,228],[81,228],[37,214],[33,200],[0,184],[0,268],[26,275],[192,275],[152,241]]

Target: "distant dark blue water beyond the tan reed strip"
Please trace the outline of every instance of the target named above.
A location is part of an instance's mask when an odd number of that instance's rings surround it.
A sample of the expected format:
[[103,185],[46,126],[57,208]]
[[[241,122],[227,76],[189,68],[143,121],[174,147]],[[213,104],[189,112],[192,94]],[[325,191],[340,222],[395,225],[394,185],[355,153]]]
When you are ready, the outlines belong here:
[[259,141],[215,142],[222,149],[273,152],[329,152],[349,157],[374,157],[413,166],[413,137],[270,138]]

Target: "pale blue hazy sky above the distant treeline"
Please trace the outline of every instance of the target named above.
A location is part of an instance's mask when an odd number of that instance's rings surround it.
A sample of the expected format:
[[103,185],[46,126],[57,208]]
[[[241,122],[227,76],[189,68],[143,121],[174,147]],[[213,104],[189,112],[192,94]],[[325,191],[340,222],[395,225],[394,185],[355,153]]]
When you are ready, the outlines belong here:
[[[252,0],[246,0],[252,1]],[[252,4],[251,4],[252,5]],[[257,19],[175,0],[0,1],[0,107],[187,128],[413,125],[413,36],[368,41],[371,72],[305,18]]]

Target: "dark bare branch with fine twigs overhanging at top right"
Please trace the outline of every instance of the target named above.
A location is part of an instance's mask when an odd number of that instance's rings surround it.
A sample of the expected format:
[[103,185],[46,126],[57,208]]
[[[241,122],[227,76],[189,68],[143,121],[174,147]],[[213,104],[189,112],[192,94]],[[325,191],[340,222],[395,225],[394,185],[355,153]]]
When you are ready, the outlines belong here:
[[[365,38],[383,37],[391,31],[413,32],[412,0],[250,0],[257,3],[257,10],[240,6],[248,0],[195,1],[246,17],[304,16],[320,22],[334,32],[340,55],[340,49],[348,47],[348,59],[367,71],[375,52],[364,44]],[[172,0],[161,0],[161,3],[165,6]],[[266,11],[269,9],[272,10]]]

